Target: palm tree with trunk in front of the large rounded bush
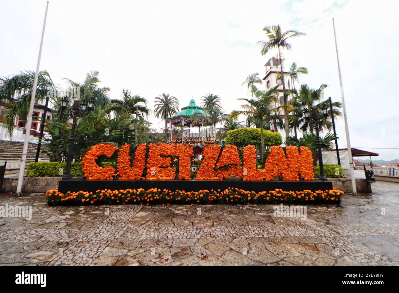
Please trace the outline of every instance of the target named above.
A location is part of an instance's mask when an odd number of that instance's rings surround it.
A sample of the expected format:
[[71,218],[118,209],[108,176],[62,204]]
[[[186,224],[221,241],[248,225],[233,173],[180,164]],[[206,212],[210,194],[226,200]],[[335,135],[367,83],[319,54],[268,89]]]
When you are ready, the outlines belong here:
[[275,86],[270,88],[269,90],[259,90],[255,85],[251,86],[251,91],[255,98],[247,99],[240,98],[238,100],[243,100],[247,102],[247,104],[241,105],[243,110],[234,110],[231,112],[231,116],[233,118],[237,117],[240,114],[243,114],[246,117],[252,117],[259,120],[260,128],[261,128],[261,157],[263,155],[263,151],[265,150],[265,139],[263,137],[263,124],[265,121],[270,120],[279,120],[281,119],[279,115],[279,109],[273,108],[272,104],[276,102],[276,92],[279,86]]

